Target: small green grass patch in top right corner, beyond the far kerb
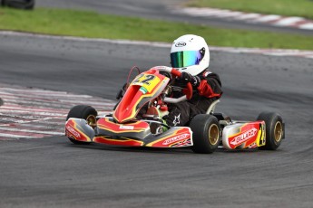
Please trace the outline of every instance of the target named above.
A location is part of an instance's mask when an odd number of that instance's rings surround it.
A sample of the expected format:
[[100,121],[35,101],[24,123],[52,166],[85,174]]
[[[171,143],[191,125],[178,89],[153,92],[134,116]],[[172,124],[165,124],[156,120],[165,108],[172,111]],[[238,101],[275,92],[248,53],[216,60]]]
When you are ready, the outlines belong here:
[[312,0],[191,0],[187,5],[313,19]]

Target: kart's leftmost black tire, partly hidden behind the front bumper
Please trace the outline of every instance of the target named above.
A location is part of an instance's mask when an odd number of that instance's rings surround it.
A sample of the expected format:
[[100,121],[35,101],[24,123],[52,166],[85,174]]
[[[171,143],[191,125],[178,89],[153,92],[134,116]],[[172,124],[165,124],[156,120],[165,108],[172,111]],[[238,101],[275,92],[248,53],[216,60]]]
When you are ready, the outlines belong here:
[[[66,120],[68,120],[69,118],[82,118],[87,121],[89,126],[94,128],[96,125],[97,115],[98,115],[98,112],[97,110],[93,109],[93,107],[86,106],[86,105],[78,105],[70,109],[69,113],[67,114]],[[70,139],[71,142],[73,142],[73,144],[76,144],[76,145],[87,145],[91,143],[91,142],[77,141],[71,137],[68,137],[68,138]]]

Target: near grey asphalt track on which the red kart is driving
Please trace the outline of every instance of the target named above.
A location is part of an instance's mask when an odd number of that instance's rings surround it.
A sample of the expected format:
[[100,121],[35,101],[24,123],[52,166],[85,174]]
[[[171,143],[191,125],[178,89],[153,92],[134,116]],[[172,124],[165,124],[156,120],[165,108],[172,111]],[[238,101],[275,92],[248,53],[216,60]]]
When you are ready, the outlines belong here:
[[[113,99],[133,65],[167,65],[169,50],[0,35],[0,82]],[[312,207],[313,61],[211,52],[210,69],[223,83],[217,111],[281,114],[286,139],[277,151],[0,141],[0,207]]]

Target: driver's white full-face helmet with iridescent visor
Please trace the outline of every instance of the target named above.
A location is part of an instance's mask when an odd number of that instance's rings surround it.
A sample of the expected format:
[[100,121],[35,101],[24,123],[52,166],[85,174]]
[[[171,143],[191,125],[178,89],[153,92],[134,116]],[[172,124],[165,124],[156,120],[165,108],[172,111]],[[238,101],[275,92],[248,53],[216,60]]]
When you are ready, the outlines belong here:
[[171,45],[171,67],[192,76],[209,67],[210,51],[205,40],[198,35],[185,34]]

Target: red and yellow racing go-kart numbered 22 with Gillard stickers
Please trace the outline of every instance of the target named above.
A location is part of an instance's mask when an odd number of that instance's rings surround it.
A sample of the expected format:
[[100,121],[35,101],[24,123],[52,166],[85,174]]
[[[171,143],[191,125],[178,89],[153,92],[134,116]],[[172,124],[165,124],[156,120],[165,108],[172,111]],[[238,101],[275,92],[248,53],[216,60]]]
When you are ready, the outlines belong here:
[[[166,76],[167,75],[167,76]],[[231,120],[215,113],[215,100],[206,114],[191,118],[189,127],[169,127],[162,122],[171,103],[192,97],[187,83],[181,98],[171,98],[171,85],[181,72],[157,66],[144,71],[120,93],[112,114],[98,116],[91,106],[74,106],[68,113],[65,135],[78,145],[102,143],[125,147],[191,147],[195,153],[226,149],[275,150],[285,137],[284,123],[277,113],[262,112],[256,121]],[[142,115],[140,111],[146,108]]]

